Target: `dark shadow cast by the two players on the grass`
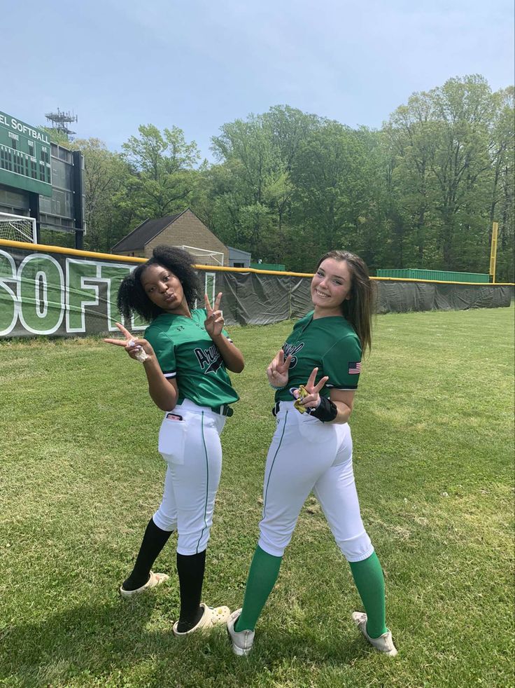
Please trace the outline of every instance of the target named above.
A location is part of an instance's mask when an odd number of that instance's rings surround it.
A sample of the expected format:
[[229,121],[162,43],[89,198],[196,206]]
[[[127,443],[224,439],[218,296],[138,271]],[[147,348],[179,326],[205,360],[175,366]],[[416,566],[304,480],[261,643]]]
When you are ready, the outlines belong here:
[[[215,677],[224,686],[261,684],[274,667],[300,668],[316,664],[317,670],[354,664],[369,650],[352,630],[352,637],[319,638],[306,628],[284,631],[258,628],[255,649],[248,658],[232,654],[224,628],[209,635],[175,638],[171,623],[148,628],[161,600],[106,600],[50,615],[44,621],[4,628],[1,633],[0,682],[31,686],[62,684],[73,677],[92,682],[114,671],[120,680],[131,679],[132,667],[150,662],[148,685],[190,685],[188,676],[211,685]],[[157,615],[159,616],[159,615]],[[162,619],[162,617],[161,617]],[[202,684],[202,683],[200,683]]]

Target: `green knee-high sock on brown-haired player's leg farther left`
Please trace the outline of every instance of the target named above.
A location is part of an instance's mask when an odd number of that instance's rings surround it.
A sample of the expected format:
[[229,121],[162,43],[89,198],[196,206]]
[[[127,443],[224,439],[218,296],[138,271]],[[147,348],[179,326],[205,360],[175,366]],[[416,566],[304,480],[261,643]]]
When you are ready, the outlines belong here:
[[261,610],[276,583],[282,560],[281,556],[271,556],[260,546],[256,547],[251,568],[248,571],[244,606],[238,621],[234,624],[234,631],[237,633],[254,630]]

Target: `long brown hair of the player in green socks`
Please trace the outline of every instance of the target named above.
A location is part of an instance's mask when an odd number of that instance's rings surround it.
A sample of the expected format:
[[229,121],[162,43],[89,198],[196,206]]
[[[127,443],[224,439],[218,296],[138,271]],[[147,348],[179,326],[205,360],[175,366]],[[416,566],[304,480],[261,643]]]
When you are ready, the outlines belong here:
[[327,258],[345,261],[351,273],[351,298],[341,304],[344,317],[351,323],[361,343],[362,352],[372,349],[372,314],[375,305],[375,289],[365,261],[348,251],[330,251],[318,261],[316,269]]

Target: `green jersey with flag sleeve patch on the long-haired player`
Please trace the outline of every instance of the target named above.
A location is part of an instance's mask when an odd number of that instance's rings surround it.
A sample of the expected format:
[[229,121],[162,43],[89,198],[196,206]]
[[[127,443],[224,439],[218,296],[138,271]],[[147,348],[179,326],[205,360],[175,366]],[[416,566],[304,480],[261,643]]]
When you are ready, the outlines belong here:
[[276,392],[276,401],[291,401],[290,387],[305,385],[313,368],[318,368],[316,382],[329,376],[320,391],[355,390],[361,371],[361,345],[348,320],[339,315],[313,320],[313,311],[300,319],[283,345],[285,357],[292,356],[288,385]]

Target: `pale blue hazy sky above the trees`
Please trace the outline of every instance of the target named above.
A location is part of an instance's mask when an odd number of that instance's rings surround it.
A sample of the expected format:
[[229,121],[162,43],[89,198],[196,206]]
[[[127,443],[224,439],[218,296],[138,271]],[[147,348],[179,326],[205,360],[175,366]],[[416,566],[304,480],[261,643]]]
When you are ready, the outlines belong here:
[[221,125],[276,104],[379,128],[451,76],[514,83],[512,0],[20,0],[0,18],[0,110],[73,109],[113,150],[153,123],[211,158]]

